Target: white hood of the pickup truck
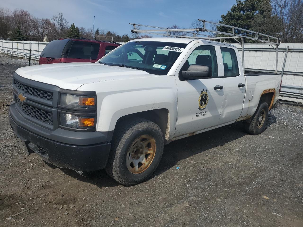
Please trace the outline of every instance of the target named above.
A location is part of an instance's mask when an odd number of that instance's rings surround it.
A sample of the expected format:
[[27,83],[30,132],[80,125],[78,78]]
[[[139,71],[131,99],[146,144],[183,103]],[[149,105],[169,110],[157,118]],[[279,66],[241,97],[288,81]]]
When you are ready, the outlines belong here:
[[19,76],[56,85],[62,89],[77,90],[83,84],[108,80],[158,76],[142,70],[108,66],[99,63],[57,63],[18,68]]

